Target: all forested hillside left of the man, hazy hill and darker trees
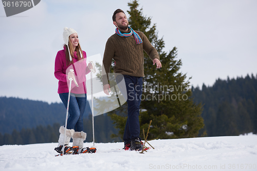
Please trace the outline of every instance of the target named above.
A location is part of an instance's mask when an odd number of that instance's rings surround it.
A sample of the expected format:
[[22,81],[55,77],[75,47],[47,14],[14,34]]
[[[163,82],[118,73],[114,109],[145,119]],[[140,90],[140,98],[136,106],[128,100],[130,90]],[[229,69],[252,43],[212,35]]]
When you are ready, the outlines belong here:
[[[58,142],[59,128],[64,125],[66,108],[62,103],[0,97],[0,145]],[[117,130],[107,115],[95,118],[95,141],[121,141],[110,138]],[[93,142],[93,126],[89,104],[84,120],[86,142]]]

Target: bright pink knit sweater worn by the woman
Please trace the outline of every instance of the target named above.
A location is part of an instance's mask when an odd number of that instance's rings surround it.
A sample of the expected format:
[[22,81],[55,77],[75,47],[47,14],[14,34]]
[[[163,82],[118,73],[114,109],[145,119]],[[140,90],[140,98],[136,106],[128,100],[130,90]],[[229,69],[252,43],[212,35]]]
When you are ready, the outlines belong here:
[[70,69],[74,69],[75,78],[79,85],[77,87],[72,81],[71,83],[71,93],[83,94],[86,93],[86,74],[90,72],[86,65],[86,52],[83,51],[84,59],[78,61],[77,52],[74,52],[74,64],[66,66],[65,58],[65,47],[63,50],[57,52],[56,62],[54,64],[54,76],[59,80],[58,93],[69,92],[69,80],[68,72]]

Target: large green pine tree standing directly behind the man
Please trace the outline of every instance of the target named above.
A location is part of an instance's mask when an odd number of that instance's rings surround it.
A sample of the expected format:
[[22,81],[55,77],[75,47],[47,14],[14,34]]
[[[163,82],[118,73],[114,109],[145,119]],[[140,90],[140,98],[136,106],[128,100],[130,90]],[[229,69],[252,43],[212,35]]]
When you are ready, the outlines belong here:
[[[192,92],[186,74],[182,74],[181,60],[177,60],[177,48],[164,52],[163,39],[158,39],[156,25],[151,26],[151,18],[143,16],[142,8],[138,10],[138,1],[128,3],[130,14],[128,22],[134,30],[142,31],[156,48],[162,64],[161,69],[156,69],[152,60],[144,52],[144,79],[141,108],[141,129],[146,128],[152,120],[149,139],[151,138],[186,138],[197,137],[198,132],[204,127],[201,118],[201,104],[195,105],[191,98]],[[111,115],[119,135],[122,137],[126,117],[126,105],[116,109]],[[121,114],[122,113],[122,114]],[[141,137],[142,131],[141,131]]]

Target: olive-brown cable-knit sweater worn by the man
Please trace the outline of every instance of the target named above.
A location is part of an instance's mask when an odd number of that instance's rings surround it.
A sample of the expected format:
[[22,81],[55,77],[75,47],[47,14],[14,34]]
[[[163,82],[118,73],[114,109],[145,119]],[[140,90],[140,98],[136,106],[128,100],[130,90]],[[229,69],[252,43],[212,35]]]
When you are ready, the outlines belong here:
[[[130,32],[130,29],[128,30]],[[136,44],[133,35],[122,37],[113,34],[106,42],[103,55],[102,81],[103,85],[108,84],[108,75],[112,60],[115,61],[114,72],[131,75],[134,77],[144,77],[144,55],[143,50],[154,60],[159,60],[157,50],[151,45],[148,38],[141,31],[135,31],[141,37],[141,44]],[[124,33],[124,32],[123,32]]]

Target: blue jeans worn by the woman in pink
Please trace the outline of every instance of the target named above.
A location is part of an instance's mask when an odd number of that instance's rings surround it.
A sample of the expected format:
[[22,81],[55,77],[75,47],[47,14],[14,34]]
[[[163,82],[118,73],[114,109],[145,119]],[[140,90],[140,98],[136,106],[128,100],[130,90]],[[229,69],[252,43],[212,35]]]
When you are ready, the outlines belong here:
[[[60,93],[59,96],[67,109],[68,92]],[[67,120],[67,129],[83,131],[83,115],[86,108],[86,94],[70,93],[69,99],[69,117]]]

